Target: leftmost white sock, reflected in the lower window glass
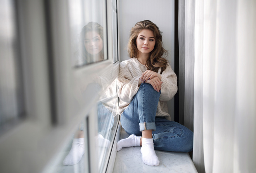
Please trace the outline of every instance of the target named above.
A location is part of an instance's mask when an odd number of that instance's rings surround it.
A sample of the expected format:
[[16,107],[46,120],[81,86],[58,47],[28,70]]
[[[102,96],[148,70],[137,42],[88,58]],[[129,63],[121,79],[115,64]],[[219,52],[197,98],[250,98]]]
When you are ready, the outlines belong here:
[[85,139],[73,139],[72,148],[63,160],[63,165],[74,165],[78,163],[85,153]]

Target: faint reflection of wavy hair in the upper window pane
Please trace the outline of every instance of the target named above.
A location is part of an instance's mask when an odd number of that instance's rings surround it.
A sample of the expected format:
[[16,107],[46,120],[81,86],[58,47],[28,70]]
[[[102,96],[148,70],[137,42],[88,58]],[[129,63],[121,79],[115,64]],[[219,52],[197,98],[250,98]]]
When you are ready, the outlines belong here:
[[[86,51],[85,45],[84,45],[85,34],[89,31],[97,32],[103,41],[102,25],[98,24],[97,22],[89,22],[83,27],[80,33],[79,46],[80,46],[80,56],[82,56],[83,61],[85,61],[86,64],[95,62],[93,61],[93,55]],[[102,60],[104,59],[104,48],[102,48],[102,51],[100,52],[100,57],[102,58]]]

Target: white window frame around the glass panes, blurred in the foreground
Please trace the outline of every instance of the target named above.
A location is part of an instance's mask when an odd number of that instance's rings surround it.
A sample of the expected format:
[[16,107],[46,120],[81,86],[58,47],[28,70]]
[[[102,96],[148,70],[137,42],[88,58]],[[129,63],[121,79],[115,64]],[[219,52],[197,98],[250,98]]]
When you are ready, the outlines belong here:
[[[19,16],[19,33],[21,35],[21,56],[24,77],[24,95],[26,118],[18,125],[0,136],[0,168],[1,172],[44,172],[48,169],[58,152],[71,133],[85,119],[91,107],[86,107],[80,115],[73,116],[70,102],[71,83],[74,76],[86,73],[100,74],[102,71],[115,72],[109,84],[118,73],[119,62],[113,64],[112,52],[112,19],[111,9],[105,12],[107,18],[107,44],[108,59],[99,63],[93,63],[85,68],[71,69],[70,57],[71,46],[69,38],[69,25],[67,14],[67,1],[56,0],[50,3],[52,18],[52,40],[54,57],[54,90],[55,100],[52,100],[52,88],[50,87],[47,31],[45,27],[45,1],[44,0],[19,0],[16,1]],[[107,7],[112,4],[111,0],[106,1]],[[110,12],[109,12],[110,10]],[[60,63],[61,62],[61,63]],[[51,103],[55,102],[54,112],[56,113],[55,124],[52,123]],[[96,101],[95,101],[96,104]],[[94,105],[94,103],[92,103]],[[91,126],[97,126],[97,119],[88,114]],[[117,130],[117,127],[116,127]],[[97,131],[88,132],[90,138],[97,136]],[[85,137],[86,138],[86,137]],[[87,141],[86,141],[87,142]],[[116,142],[116,141],[115,141]],[[90,146],[95,146],[95,141],[90,140]],[[116,143],[112,141],[115,148]],[[116,152],[116,150],[112,150]],[[96,149],[90,148],[90,153],[97,153]],[[88,151],[85,151],[88,154]],[[110,158],[115,158],[109,154]],[[97,172],[97,157],[90,154],[90,165],[85,172]],[[85,164],[88,160],[85,159]],[[111,170],[104,165],[104,170]]]

